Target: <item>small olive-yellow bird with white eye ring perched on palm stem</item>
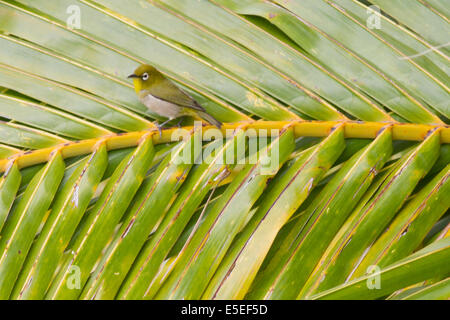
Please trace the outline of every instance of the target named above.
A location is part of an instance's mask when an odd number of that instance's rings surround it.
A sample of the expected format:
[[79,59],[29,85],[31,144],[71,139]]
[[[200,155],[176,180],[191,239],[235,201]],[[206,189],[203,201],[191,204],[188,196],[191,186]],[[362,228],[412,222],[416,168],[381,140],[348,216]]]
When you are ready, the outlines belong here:
[[162,124],[157,125],[160,135],[162,126],[183,116],[206,120],[219,129],[222,126],[222,123],[208,114],[194,98],[155,67],[148,64],[140,65],[128,78],[133,79],[134,90],[139,100],[153,113],[167,118]]

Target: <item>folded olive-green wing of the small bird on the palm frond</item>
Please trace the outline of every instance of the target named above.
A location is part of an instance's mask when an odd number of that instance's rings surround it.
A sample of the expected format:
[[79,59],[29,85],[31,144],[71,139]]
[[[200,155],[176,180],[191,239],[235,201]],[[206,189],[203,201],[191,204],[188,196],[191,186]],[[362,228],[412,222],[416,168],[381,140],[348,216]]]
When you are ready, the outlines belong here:
[[170,102],[181,107],[192,108],[195,110],[205,111],[194,98],[178,88],[169,79],[163,79],[158,84],[153,84],[147,91],[155,98]]

